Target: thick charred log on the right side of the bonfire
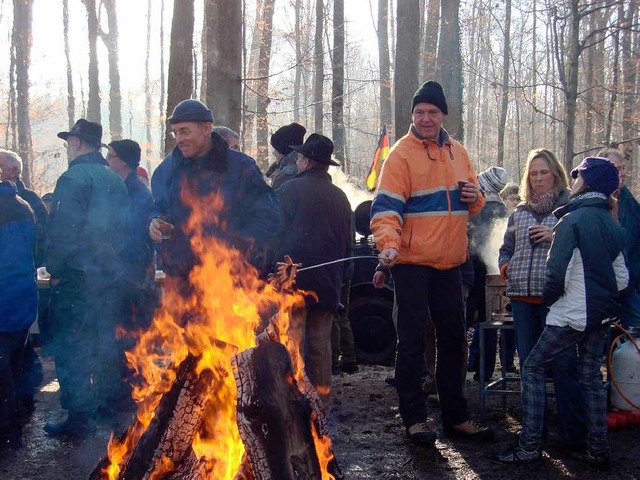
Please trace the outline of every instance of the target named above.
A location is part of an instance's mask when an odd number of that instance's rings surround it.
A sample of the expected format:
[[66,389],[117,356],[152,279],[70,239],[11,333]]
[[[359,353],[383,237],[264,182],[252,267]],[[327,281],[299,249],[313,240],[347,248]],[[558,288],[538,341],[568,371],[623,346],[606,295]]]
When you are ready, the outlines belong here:
[[[313,429],[318,431],[320,422],[315,420],[324,415],[298,389],[285,347],[269,342],[245,350],[234,359],[234,367],[238,427],[253,472],[248,478],[322,478]],[[315,407],[319,405],[318,399]],[[332,475],[341,478],[337,463],[331,461]]]

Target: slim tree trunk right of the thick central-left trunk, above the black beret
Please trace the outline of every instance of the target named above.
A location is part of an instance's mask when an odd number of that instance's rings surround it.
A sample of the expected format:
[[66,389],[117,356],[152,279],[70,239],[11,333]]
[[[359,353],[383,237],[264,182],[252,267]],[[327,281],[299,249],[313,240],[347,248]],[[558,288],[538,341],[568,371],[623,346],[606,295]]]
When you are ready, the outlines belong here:
[[275,0],[264,0],[262,6],[262,30],[260,56],[258,57],[258,105],[256,109],[256,142],[258,166],[264,170],[269,167],[269,121],[267,107],[269,98],[269,64],[271,63],[271,40],[273,38],[273,10]]

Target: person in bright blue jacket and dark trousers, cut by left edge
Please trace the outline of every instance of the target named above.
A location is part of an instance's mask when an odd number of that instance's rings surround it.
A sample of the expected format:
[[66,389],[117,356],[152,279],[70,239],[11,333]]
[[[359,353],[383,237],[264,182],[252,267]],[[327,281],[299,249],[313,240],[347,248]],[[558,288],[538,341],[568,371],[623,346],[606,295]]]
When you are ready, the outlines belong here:
[[35,218],[10,182],[0,182],[0,449],[21,446],[18,382],[38,311]]

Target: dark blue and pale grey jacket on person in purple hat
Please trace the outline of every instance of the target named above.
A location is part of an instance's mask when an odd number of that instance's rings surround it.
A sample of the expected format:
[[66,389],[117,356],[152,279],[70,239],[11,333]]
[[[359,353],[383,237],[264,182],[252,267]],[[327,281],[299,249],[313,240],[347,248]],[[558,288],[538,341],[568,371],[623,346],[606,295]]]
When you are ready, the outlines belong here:
[[547,325],[584,331],[618,314],[620,291],[629,283],[624,230],[603,194],[589,192],[554,212],[542,304]]

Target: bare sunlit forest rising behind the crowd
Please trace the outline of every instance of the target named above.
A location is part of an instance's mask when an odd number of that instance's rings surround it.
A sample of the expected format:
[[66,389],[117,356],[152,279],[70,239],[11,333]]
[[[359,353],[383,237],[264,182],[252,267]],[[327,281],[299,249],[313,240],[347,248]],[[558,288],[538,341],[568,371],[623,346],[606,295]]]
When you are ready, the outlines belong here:
[[636,0],[0,0],[0,146],[43,194],[67,165],[55,134],[84,117],[153,170],[192,97],[263,171],[270,134],[297,121],[364,187],[383,125],[404,135],[436,79],[476,171],[517,182],[531,148],[570,169],[616,146],[637,194],[639,17]]

